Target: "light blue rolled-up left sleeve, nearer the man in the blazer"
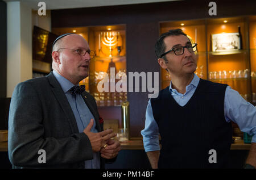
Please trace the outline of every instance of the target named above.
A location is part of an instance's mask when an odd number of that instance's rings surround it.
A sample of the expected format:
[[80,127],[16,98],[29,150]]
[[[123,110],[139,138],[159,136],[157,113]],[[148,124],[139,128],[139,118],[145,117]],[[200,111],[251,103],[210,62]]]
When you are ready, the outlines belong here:
[[146,152],[160,150],[158,124],[155,122],[150,101],[147,104],[145,127],[141,135]]

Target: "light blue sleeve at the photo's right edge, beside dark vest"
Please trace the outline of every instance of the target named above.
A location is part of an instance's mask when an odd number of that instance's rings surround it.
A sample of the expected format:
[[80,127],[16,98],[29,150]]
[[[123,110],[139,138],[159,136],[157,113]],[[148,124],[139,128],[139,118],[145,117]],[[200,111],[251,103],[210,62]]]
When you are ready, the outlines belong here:
[[224,113],[227,122],[237,123],[242,132],[253,136],[251,142],[256,143],[256,108],[229,86],[225,92]]

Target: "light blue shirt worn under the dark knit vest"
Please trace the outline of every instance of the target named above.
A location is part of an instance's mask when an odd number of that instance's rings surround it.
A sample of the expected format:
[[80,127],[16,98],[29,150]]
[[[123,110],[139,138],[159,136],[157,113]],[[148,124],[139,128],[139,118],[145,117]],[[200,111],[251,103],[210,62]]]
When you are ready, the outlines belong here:
[[[191,83],[186,87],[185,94],[181,94],[177,92],[176,89],[172,89],[172,82],[170,83],[170,93],[180,106],[187,104],[195,93],[199,80],[200,78],[194,74]],[[245,99],[243,99],[237,91],[231,89],[230,86],[228,86],[225,91],[224,115],[226,122],[232,120],[234,123],[237,123],[242,132],[247,132],[249,135],[253,136],[251,142],[256,143],[256,108],[253,104],[245,101]],[[146,152],[160,150],[158,124],[155,122],[150,101],[148,101],[146,110],[145,128],[141,131],[141,135],[143,136],[143,144]]]

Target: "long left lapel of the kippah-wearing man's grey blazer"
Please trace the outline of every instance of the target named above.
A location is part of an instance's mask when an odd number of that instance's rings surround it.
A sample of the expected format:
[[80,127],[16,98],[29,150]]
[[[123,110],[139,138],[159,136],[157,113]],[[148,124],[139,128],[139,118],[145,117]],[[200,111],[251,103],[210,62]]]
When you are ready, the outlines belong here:
[[53,86],[52,88],[53,94],[55,95],[57,101],[59,101],[65,116],[67,116],[72,132],[73,133],[79,132],[79,129],[76,123],[76,118],[75,118],[75,115],[73,114],[72,108],[69,105],[68,99],[65,96],[63,89],[61,88],[59,82],[57,81],[57,79],[55,78],[52,72],[48,75],[48,79],[49,79],[49,83]]

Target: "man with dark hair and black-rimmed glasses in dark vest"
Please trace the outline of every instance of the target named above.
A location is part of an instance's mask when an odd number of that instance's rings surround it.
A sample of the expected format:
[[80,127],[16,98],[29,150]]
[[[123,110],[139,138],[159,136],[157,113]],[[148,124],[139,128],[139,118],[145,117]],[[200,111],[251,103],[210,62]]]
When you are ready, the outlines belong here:
[[196,46],[180,29],[162,34],[155,44],[158,63],[170,73],[171,83],[148,101],[141,134],[150,164],[152,168],[230,168],[233,121],[253,136],[245,167],[254,168],[256,108],[228,85],[194,73]]

